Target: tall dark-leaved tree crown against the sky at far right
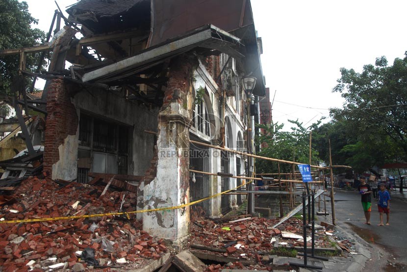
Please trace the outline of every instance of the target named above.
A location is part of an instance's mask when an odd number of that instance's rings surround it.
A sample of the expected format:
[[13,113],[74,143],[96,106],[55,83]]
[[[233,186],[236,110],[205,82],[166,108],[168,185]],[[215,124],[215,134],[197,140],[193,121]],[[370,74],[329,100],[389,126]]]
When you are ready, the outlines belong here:
[[[346,123],[347,130],[357,135],[356,150],[371,153],[380,150],[381,161],[407,159],[407,52],[396,58],[392,66],[385,57],[375,65],[365,65],[361,73],[341,68],[341,78],[333,92],[345,98],[343,109],[332,109],[335,120]],[[372,165],[370,165],[372,166]]]

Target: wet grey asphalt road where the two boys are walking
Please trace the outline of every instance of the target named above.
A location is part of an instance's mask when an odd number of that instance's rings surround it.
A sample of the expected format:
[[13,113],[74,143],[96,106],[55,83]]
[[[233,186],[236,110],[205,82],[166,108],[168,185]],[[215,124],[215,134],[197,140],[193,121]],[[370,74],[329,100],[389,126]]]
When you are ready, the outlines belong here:
[[[390,226],[384,227],[377,226],[380,222],[377,201],[372,202],[371,225],[368,226],[363,224],[365,218],[357,191],[336,190],[334,199],[336,223],[348,225],[372,246],[373,260],[366,265],[365,271],[407,271],[407,199],[404,196],[392,192]],[[327,210],[331,210],[331,202],[327,202]],[[385,215],[383,220],[385,223]],[[380,250],[387,253],[382,254],[382,258]]]

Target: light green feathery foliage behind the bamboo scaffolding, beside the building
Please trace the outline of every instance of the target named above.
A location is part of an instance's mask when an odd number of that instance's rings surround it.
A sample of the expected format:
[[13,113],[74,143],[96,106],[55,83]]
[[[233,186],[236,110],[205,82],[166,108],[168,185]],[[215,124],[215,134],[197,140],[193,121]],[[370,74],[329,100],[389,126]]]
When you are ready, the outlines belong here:
[[[309,129],[315,129],[320,122],[304,128],[298,120],[288,120],[293,126],[291,131],[282,131],[283,125],[278,123],[267,125],[257,125],[265,131],[258,137],[257,143],[263,144],[260,156],[297,161],[307,164],[309,162]],[[318,152],[312,148],[311,161],[320,161]],[[257,173],[277,173],[278,163],[269,160],[256,160]],[[286,173],[292,170],[292,165],[280,163],[280,172]],[[295,170],[298,170],[297,168]]]

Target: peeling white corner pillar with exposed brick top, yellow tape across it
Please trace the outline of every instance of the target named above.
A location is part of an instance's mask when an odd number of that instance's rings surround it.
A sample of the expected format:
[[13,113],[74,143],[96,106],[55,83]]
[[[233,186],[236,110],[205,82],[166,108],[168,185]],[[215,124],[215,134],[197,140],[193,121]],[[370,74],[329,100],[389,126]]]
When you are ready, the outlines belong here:
[[[157,171],[144,186],[144,208],[189,203],[189,120],[193,61],[178,57],[170,66],[163,106],[158,115]],[[143,213],[143,229],[181,248],[189,231],[189,207]]]

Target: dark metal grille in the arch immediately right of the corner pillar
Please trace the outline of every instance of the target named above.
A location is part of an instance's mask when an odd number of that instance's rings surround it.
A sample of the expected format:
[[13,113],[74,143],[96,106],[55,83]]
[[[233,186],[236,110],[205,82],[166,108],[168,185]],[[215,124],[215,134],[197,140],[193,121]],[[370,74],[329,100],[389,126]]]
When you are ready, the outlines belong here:
[[[190,144],[189,147],[189,168],[193,170],[210,172],[209,165],[210,155],[209,149],[202,145]],[[209,196],[209,176],[204,174],[190,172],[189,179],[189,197],[191,202],[197,201]],[[201,206],[207,215],[210,214],[209,200],[193,205],[192,208],[196,209]]]

